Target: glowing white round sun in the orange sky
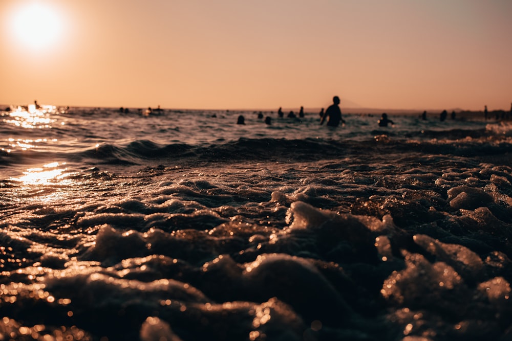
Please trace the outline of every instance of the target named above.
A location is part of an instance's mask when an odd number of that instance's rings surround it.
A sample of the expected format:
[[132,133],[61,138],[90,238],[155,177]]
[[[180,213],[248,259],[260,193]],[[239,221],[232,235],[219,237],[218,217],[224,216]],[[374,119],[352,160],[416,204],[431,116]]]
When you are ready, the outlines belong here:
[[62,35],[62,20],[58,11],[40,2],[22,3],[10,17],[11,34],[27,48],[48,48]]

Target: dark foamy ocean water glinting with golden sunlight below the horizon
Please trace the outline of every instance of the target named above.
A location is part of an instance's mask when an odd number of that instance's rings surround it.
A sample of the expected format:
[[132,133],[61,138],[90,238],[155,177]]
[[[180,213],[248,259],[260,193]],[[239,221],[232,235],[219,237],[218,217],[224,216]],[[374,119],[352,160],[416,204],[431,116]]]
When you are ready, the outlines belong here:
[[0,340],[512,337],[512,121],[145,112],[0,113]]

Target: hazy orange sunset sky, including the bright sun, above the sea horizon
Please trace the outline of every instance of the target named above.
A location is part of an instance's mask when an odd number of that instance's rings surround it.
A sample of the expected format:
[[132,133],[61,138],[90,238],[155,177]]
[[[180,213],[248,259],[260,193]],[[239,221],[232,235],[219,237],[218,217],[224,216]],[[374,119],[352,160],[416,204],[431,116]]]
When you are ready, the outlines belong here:
[[0,0],[0,103],[509,109],[510,0]]

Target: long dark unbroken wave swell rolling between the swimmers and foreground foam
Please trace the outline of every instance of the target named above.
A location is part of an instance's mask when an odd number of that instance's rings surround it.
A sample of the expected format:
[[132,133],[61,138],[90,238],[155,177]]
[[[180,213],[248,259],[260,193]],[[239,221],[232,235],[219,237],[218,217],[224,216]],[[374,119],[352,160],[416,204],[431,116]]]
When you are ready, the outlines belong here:
[[[454,132],[463,136],[461,132]],[[106,164],[147,164],[164,162],[244,162],[244,161],[314,161],[350,155],[378,156],[387,153],[428,153],[458,156],[488,156],[507,154],[512,150],[512,140],[482,138],[475,132],[460,140],[432,139],[428,141],[393,139],[377,135],[366,141],[339,141],[323,139],[249,139],[193,146],[182,143],[158,144],[148,140],[134,141],[126,146],[102,145],[81,153],[81,157]],[[452,135],[453,136],[453,135]]]

